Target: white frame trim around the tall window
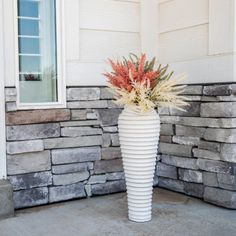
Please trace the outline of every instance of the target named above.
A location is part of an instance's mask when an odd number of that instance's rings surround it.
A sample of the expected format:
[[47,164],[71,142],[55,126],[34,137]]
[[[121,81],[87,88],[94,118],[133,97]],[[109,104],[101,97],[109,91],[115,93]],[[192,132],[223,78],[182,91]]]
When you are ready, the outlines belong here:
[[58,84],[58,102],[48,103],[21,103],[19,96],[19,46],[18,46],[18,12],[17,0],[14,1],[14,32],[15,32],[15,68],[16,68],[16,105],[18,110],[29,109],[50,109],[66,107],[66,81],[65,81],[65,36],[64,36],[64,1],[56,1],[56,39],[57,39],[57,84]]

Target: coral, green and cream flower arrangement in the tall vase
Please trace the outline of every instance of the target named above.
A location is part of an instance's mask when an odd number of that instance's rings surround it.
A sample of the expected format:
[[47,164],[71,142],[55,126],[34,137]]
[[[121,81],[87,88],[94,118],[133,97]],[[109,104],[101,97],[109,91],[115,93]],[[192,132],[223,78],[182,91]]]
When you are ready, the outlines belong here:
[[171,79],[173,72],[167,72],[168,65],[155,69],[155,58],[147,61],[145,54],[140,57],[130,54],[129,59],[123,58],[123,61],[108,61],[112,72],[104,75],[117,104],[141,112],[161,106],[184,110],[188,105],[186,97],[181,95],[185,86],[179,85],[185,75]]

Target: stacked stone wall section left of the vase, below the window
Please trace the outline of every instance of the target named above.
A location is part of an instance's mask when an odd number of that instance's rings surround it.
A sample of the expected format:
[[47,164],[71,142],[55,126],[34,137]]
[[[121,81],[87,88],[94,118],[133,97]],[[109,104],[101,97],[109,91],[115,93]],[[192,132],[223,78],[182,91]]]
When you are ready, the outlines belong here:
[[67,108],[16,111],[6,88],[7,171],[15,208],[125,191],[121,108],[105,88],[68,88]]

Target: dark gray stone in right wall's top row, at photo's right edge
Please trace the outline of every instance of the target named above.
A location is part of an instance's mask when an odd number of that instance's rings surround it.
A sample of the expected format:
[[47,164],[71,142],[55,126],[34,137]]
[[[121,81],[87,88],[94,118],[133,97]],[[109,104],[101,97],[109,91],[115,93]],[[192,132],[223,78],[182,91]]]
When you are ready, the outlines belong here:
[[209,85],[203,88],[203,94],[207,96],[229,96],[235,91],[235,84]]

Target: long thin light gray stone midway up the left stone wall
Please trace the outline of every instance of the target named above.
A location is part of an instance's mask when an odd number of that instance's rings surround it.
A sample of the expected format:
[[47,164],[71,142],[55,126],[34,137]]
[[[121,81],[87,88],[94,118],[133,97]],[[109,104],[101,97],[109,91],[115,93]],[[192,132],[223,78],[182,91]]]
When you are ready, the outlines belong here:
[[44,139],[45,149],[73,148],[102,145],[102,136]]

